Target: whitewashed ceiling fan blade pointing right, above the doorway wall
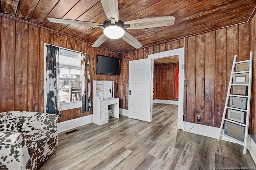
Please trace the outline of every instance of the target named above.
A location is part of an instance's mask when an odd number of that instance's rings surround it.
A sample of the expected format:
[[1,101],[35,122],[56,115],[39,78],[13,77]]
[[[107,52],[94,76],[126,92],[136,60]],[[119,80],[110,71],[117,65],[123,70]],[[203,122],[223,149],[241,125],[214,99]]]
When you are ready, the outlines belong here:
[[124,24],[129,24],[130,27],[127,29],[143,29],[143,28],[154,28],[164,27],[174,24],[174,16],[166,17],[154,17],[154,18],[143,18],[138,20],[127,21]]

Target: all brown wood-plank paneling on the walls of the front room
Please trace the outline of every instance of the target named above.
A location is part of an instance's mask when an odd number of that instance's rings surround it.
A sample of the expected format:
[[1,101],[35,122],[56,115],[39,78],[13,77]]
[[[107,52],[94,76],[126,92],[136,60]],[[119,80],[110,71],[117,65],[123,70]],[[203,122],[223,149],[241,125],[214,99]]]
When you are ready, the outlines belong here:
[[[128,109],[129,61],[149,54],[185,47],[184,121],[220,127],[234,55],[238,60],[256,54],[256,16],[251,22],[201,33],[127,53],[116,54],[42,27],[0,17],[0,112],[28,110],[44,112],[44,43],[73,49],[90,55],[91,81],[114,80],[114,97],[120,108]],[[121,58],[120,75],[96,74],[96,54]],[[256,57],[253,57],[254,63]],[[256,141],[256,68],[253,68],[249,133]],[[91,83],[91,90],[92,83]],[[92,91],[93,94],[93,91]],[[60,121],[91,114],[80,108],[62,111]]]

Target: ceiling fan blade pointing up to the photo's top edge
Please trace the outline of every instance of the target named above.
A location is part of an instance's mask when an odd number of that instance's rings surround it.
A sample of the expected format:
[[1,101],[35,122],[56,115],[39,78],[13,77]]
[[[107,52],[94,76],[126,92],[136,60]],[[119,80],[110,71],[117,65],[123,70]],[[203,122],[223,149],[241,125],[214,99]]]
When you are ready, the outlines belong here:
[[115,21],[117,22],[119,20],[117,0],[100,0],[100,1],[108,20],[110,20],[111,18],[114,18]]

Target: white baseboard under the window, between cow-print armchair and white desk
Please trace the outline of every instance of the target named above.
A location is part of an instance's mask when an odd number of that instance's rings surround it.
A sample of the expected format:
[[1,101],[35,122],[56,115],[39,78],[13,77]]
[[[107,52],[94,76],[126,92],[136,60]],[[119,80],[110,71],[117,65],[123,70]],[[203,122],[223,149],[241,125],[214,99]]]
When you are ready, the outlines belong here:
[[89,123],[93,122],[93,117],[92,115],[87,115],[83,117],[78,117],[76,119],[71,119],[68,121],[63,121],[58,123],[58,133],[68,131],[70,129],[74,129],[79,126],[83,126]]

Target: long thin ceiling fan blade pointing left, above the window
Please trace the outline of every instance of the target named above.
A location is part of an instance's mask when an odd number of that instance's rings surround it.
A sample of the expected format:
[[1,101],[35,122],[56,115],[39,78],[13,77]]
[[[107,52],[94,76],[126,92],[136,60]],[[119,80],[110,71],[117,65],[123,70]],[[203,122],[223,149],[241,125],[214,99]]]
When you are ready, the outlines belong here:
[[90,26],[90,27],[98,27],[99,25],[102,25],[101,23],[88,22],[88,21],[77,21],[77,20],[67,20],[67,19],[58,19],[58,18],[47,18],[47,19],[50,22],[55,22],[55,23],[65,23],[65,24],[72,24],[72,25],[86,25],[86,26]]

